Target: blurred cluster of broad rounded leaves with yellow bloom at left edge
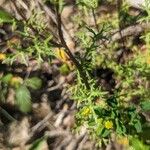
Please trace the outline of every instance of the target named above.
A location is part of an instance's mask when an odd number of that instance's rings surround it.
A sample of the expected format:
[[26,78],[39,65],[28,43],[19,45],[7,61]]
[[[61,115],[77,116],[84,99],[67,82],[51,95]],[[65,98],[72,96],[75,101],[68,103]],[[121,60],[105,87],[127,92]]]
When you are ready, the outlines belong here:
[[1,94],[0,100],[6,101],[9,87],[15,91],[15,103],[18,108],[28,113],[31,111],[31,94],[28,89],[30,87],[33,90],[40,89],[42,86],[42,80],[38,77],[31,77],[23,81],[21,77],[13,76],[12,74],[6,74],[1,79]]

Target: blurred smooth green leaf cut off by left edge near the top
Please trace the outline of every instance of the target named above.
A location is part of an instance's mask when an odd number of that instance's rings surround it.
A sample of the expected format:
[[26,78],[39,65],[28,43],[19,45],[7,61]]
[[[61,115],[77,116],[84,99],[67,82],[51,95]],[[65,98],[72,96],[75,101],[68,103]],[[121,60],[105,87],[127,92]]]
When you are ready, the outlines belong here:
[[0,9],[0,23],[12,23],[14,18],[6,11]]

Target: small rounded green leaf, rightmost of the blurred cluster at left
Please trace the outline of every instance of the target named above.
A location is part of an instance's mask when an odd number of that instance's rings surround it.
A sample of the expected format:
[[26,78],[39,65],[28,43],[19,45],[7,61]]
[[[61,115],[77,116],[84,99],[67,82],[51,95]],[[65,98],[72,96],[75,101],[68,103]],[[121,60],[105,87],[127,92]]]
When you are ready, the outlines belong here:
[[40,89],[42,86],[42,80],[39,79],[38,77],[32,77],[32,78],[28,78],[25,81],[25,85],[32,88],[33,90],[37,90]]

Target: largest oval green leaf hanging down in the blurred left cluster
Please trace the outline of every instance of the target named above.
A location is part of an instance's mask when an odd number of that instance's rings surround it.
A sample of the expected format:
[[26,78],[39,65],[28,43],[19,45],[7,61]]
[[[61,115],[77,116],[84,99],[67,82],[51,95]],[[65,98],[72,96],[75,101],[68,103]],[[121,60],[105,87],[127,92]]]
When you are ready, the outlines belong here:
[[22,112],[31,111],[31,95],[26,86],[22,85],[16,90],[16,103]]

